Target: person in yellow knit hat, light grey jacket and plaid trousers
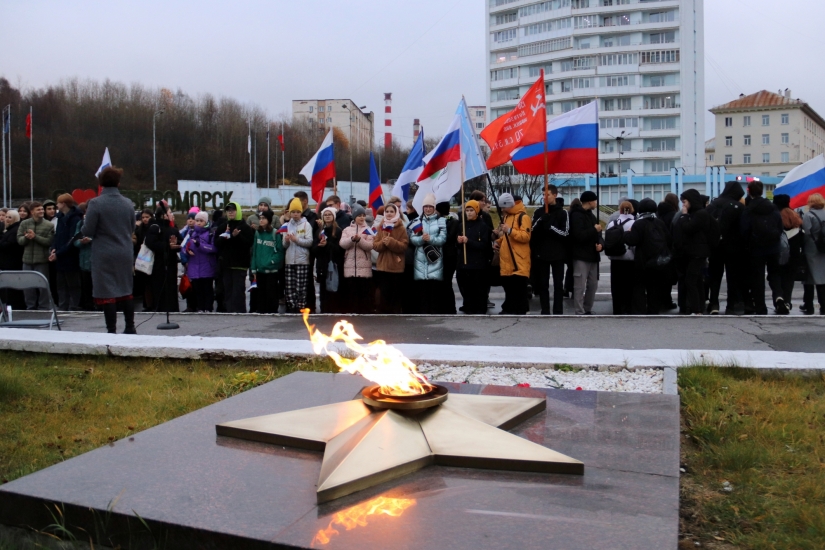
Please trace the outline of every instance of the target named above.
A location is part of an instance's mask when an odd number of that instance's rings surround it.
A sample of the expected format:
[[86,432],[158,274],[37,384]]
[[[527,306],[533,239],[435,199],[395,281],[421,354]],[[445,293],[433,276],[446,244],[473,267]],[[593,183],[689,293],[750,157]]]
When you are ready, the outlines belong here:
[[314,242],[314,228],[303,217],[303,210],[300,199],[294,198],[289,201],[289,222],[283,235],[286,250],[284,298],[287,313],[298,313],[307,306],[307,280],[310,274],[310,249]]

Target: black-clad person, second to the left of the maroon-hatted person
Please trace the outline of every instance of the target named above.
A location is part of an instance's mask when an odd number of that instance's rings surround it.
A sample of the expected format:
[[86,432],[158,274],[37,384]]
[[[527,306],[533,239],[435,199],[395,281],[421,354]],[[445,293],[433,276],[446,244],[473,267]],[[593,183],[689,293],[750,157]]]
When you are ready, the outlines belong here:
[[722,241],[711,250],[708,261],[710,274],[709,313],[719,313],[719,290],[722,275],[728,283],[728,303],[725,315],[736,315],[743,311],[745,279],[743,267],[747,256],[744,253],[745,242],[742,240],[741,217],[745,210],[742,197],[745,191],[738,181],[729,181],[725,190],[708,206],[708,214],[719,222]]

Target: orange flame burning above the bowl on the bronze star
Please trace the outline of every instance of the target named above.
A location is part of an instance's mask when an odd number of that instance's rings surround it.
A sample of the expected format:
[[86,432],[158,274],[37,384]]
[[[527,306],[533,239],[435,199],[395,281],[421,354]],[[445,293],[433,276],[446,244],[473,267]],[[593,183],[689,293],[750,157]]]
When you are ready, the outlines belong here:
[[[304,324],[309,330],[309,339],[313,351],[318,354],[327,354],[342,371],[350,374],[360,374],[370,382],[378,384],[381,393],[386,395],[420,395],[432,388],[423,374],[418,372],[415,363],[404,357],[396,348],[387,345],[383,340],[376,340],[367,345],[361,345],[356,340],[362,340],[355,332],[355,327],[347,321],[338,321],[327,336],[309,324],[309,310],[303,309]],[[356,354],[355,359],[341,357],[331,349],[335,342],[343,342],[347,349]]]

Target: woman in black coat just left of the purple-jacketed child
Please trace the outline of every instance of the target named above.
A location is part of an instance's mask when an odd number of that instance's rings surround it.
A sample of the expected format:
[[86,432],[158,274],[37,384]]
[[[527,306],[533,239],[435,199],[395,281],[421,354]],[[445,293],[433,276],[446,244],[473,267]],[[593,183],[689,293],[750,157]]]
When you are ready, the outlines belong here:
[[178,305],[178,253],[181,236],[169,223],[162,208],[155,212],[155,221],[146,232],[144,244],[155,253],[150,286],[153,311],[180,311]]

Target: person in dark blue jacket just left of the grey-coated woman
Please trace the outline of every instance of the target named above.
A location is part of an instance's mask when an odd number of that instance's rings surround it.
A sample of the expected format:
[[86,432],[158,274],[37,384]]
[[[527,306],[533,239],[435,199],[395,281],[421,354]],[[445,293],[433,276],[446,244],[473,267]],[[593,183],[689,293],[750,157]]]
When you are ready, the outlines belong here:
[[57,207],[49,262],[54,270],[58,308],[61,311],[80,311],[80,251],[73,240],[83,214],[68,193],[57,197]]

